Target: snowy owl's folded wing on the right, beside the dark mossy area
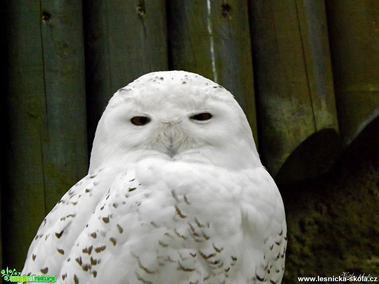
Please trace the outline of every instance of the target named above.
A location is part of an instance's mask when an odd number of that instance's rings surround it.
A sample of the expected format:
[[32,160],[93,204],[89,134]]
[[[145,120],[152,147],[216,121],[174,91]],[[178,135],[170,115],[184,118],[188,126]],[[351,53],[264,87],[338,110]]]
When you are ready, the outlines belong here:
[[282,282],[285,251],[287,247],[287,224],[284,205],[273,178],[262,167],[249,174],[249,193],[243,201],[243,228],[247,246],[253,253],[248,256],[254,263],[252,283],[280,284]]

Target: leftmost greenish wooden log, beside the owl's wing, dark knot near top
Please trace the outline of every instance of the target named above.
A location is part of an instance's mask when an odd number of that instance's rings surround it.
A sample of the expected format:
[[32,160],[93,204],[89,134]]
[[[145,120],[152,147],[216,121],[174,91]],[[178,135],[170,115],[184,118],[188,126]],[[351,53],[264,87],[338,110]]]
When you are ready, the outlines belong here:
[[4,263],[20,271],[45,215],[88,167],[81,2],[7,1]]

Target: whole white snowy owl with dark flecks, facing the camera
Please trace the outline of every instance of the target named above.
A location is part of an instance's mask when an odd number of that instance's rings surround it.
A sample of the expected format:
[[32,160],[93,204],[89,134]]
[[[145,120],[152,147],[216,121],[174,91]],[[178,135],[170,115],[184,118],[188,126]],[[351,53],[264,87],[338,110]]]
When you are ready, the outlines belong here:
[[118,90],[89,173],[43,220],[21,275],[58,283],[282,281],[287,226],[233,95],[184,71]]

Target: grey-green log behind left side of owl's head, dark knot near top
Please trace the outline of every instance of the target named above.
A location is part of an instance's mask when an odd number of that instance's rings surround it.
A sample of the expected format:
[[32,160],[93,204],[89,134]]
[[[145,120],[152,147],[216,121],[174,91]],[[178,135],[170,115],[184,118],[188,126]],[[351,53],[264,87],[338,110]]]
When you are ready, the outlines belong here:
[[166,6],[157,1],[85,1],[89,141],[117,91],[168,69]]

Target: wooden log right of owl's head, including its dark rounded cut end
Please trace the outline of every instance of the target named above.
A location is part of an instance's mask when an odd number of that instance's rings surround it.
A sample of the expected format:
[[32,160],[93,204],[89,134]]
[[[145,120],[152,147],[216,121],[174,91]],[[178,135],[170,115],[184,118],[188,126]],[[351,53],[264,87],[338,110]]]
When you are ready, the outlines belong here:
[[[338,149],[324,4],[250,3],[265,165],[277,179],[283,176],[286,181],[322,172]],[[305,145],[312,147],[299,147],[307,139]]]

